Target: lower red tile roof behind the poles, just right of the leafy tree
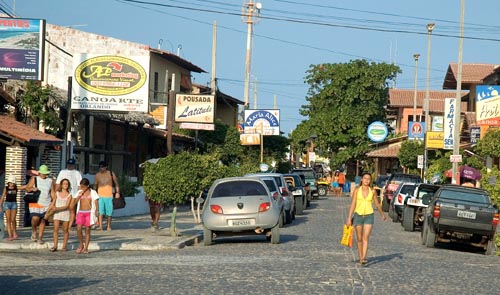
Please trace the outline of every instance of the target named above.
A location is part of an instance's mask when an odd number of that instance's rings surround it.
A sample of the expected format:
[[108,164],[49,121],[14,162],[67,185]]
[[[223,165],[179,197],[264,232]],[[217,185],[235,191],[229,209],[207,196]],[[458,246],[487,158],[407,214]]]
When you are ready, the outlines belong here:
[[[389,89],[389,108],[390,107],[413,107],[415,91],[408,89]],[[468,91],[462,91],[462,97],[469,95]],[[425,90],[417,90],[417,108],[423,108]],[[429,91],[429,110],[444,112],[444,99],[456,97],[455,91]],[[466,102],[460,105],[461,110],[465,111]]]

